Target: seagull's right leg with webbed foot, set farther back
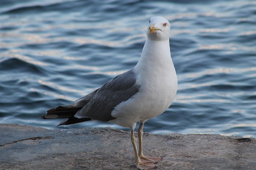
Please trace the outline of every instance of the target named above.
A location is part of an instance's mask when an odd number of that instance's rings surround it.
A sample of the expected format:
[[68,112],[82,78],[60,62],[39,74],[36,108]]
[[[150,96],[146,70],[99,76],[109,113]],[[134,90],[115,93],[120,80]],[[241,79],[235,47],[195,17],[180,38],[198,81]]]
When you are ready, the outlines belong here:
[[139,138],[139,158],[141,158],[142,162],[146,163],[154,163],[156,164],[157,161],[162,160],[160,157],[148,157],[144,156],[142,152],[142,136],[143,136],[143,126],[144,123],[140,123],[140,127],[138,129],[138,138]]

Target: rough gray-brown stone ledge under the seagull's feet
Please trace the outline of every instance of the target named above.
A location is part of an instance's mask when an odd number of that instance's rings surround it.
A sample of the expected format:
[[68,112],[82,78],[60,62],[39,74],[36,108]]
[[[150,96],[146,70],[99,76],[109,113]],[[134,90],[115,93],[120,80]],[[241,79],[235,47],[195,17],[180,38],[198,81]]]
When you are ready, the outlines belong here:
[[[144,154],[158,170],[256,170],[256,139],[144,133]],[[0,169],[136,170],[130,132],[112,128],[44,129],[0,124]]]

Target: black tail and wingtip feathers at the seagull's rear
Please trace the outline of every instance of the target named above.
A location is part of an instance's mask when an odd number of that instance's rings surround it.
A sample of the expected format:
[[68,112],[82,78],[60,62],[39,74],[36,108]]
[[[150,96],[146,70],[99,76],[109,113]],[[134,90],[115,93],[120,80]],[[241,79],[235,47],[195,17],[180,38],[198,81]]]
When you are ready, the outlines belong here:
[[82,109],[82,107],[70,107],[70,106],[58,106],[56,108],[50,109],[47,111],[46,115],[42,115],[42,119],[58,119],[58,118],[68,118],[60,122],[57,126],[60,125],[71,125],[74,123],[81,123],[84,121],[90,121],[88,117],[76,118],[74,115],[77,111]]

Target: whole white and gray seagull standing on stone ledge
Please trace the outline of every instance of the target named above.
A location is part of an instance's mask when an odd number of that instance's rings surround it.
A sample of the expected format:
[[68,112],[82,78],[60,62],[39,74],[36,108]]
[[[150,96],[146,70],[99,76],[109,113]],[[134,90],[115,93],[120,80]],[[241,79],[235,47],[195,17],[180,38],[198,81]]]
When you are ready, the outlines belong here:
[[[106,82],[102,87],[68,106],[47,111],[42,119],[68,118],[60,125],[84,121],[116,123],[131,129],[130,140],[140,170],[155,169],[161,157],[144,156],[142,135],[144,123],[162,114],[176,96],[178,80],[170,55],[170,23],[163,17],[152,17],[146,31],[147,39],[134,68]],[[134,129],[138,128],[137,150]]]

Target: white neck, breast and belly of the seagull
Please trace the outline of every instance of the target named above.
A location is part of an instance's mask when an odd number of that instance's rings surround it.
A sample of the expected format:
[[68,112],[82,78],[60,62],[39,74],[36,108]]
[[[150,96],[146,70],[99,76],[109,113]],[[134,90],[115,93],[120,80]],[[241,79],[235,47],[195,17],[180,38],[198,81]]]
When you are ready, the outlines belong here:
[[146,41],[138,64],[134,67],[139,92],[112,111],[112,122],[123,127],[148,120],[163,113],[177,92],[177,76],[168,42]]

